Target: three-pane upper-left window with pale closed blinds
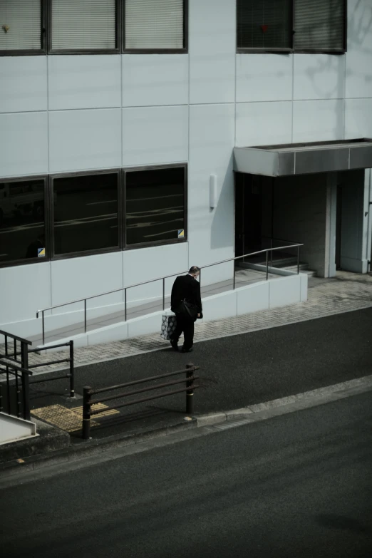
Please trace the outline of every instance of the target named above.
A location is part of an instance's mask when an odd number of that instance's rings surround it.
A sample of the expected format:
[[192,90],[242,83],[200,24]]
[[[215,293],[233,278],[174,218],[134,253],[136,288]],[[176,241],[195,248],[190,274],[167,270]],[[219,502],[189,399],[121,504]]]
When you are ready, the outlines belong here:
[[0,0],[0,55],[184,53],[188,0]]

